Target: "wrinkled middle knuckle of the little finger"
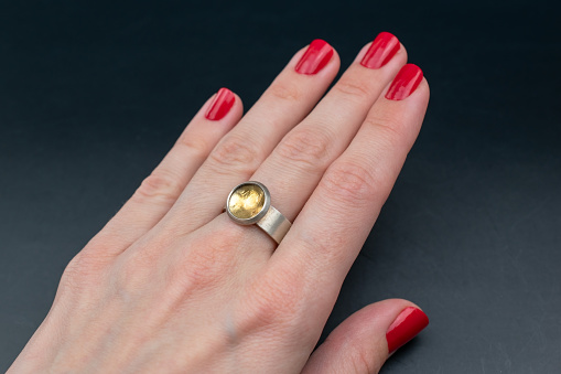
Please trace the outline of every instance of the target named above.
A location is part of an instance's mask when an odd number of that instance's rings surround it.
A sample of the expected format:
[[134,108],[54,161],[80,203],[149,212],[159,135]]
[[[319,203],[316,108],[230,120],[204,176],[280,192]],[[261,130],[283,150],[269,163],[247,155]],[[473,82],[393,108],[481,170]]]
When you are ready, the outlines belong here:
[[183,186],[175,175],[163,170],[154,170],[142,181],[134,195],[141,201],[154,199],[175,201],[182,191]]

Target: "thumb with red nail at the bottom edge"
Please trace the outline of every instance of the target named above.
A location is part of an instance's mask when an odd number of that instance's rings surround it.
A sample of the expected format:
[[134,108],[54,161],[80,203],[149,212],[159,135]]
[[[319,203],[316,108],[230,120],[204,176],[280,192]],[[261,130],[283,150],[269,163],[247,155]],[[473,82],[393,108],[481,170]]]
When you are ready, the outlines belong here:
[[378,373],[391,353],[428,324],[427,314],[410,301],[369,304],[332,331],[302,373]]

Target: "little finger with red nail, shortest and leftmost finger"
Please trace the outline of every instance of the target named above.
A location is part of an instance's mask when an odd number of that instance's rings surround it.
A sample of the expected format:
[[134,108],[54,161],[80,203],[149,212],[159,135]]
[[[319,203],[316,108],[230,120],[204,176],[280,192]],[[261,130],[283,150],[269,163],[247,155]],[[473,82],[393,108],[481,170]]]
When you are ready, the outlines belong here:
[[213,95],[160,164],[85,250],[117,255],[152,228],[175,203],[216,143],[239,121],[242,111],[240,98],[229,89],[220,88]]

